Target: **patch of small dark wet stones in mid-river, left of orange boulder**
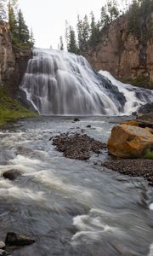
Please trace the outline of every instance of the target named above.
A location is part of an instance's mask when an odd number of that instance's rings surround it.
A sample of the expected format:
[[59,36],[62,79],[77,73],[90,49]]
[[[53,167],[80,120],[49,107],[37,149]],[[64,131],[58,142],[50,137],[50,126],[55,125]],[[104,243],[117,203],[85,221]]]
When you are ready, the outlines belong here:
[[105,144],[95,141],[88,135],[60,135],[54,137],[53,144],[56,149],[63,152],[65,157],[78,160],[88,160],[92,153],[99,154]]

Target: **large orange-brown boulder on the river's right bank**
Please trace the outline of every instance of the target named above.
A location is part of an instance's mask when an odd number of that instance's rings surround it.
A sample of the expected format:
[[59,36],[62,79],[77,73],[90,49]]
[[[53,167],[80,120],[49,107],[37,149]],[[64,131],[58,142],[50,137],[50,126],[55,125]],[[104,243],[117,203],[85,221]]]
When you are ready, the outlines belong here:
[[133,125],[118,125],[111,131],[107,148],[121,158],[142,158],[153,154],[153,134],[150,129]]

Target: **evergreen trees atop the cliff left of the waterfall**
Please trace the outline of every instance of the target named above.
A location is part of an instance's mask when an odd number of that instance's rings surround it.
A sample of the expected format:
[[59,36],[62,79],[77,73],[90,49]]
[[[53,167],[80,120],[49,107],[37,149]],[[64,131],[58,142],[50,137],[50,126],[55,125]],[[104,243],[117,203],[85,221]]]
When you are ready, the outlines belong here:
[[0,0],[0,21],[8,21],[14,47],[33,47],[33,32],[26,25],[21,9],[18,9],[18,0]]

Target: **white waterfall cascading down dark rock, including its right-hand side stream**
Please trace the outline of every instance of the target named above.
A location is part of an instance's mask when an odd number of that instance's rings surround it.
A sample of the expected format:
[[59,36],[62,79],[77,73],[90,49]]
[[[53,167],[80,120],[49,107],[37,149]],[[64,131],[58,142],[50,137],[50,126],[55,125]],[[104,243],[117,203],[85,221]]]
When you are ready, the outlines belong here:
[[44,115],[127,114],[153,100],[150,90],[133,86],[122,90],[116,85],[96,73],[81,55],[34,49],[20,89],[26,93],[26,102]]

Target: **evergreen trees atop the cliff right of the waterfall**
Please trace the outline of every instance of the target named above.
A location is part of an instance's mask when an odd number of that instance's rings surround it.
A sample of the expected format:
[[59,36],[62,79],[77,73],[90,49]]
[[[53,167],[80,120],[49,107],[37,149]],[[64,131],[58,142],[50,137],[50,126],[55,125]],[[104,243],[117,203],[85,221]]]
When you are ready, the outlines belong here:
[[[127,32],[132,32],[140,40],[152,37],[152,25],[144,26],[147,17],[153,11],[152,0],[122,0],[123,9],[116,0],[107,0],[100,10],[100,18],[95,20],[93,11],[90,16],[77,16],[77,30],[65,22],[65,41],[69,52],[83,54],[90,47],[99,44],[102,33],[121,15],[127,16]],[[141,20],[141,21],[140,21]],[[64,49],[63,38],[60,37],[59,49]]]

